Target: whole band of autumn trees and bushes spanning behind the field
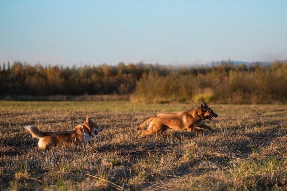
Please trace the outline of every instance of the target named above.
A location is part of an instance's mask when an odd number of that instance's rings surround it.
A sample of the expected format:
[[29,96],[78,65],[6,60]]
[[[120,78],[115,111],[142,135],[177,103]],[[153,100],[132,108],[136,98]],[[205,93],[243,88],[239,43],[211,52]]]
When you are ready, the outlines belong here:
[[216,101],[285,103],[287,63],[246,66],[221,61],[209,66],[118,63],[81,67],[30,65],[14,61],[0,66],[0,97],[49,95],[132,95],[134,101]]

